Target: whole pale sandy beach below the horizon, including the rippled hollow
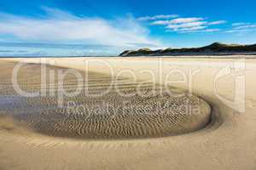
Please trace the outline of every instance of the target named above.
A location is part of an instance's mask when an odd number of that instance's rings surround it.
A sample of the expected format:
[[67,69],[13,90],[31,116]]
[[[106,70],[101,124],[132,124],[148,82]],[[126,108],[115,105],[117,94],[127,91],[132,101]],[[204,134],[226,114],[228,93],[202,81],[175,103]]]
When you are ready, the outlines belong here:
[[[18,75],[14,75],[19,63],[26,65],[20,65]],[[44,64],[46,77],[40,76],[39,64]],[[0,169],[256,168],[255,59],[6,58],[0,59],[0,65]],[[82,77],[73,72],[58,74],[70,69]],[[88,74],[87,79],[84,74]],[[58,94],[60,87],[67,94],[75,94],[74,87],[82,87],[78,95],[61,96],[64,106],[69,106],[70,100],[76,105],[105,101],[113,107],[100,105],[104,108],[100,111],[114,113],[125,101],[139,106],[140,114],[133,114],[131,107],[125,114],[114,116],[88,116],[81,107],[71,107],[70,112],[59,107],[55,95],[20,96],[12,87],[14,76],[20,88],[30,94]],[[42,88],[42,80],[49,82],[47,87]],[[118,88],[90,97],[107,90],[111,82]],[[150,94],[152,88],[156,94]],[[143,95],[120,97],[114,94],[117,89],[125,95]],[[179,109],[167,107],[166,113],[171,114],[163,116],[145,107],[156,102],[170,102]],[[192,109],[183,114],[186,110],[180,108],[186,102]]]

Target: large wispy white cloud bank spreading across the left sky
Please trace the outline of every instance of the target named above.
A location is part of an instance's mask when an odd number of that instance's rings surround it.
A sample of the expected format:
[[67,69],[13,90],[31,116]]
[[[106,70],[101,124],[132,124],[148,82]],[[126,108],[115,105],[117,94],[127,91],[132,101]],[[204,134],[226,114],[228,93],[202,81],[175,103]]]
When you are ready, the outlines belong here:
[[0,34],[35,42],[84,42],[119,46],[160,44],[148,37],[148,29],[131,17],[104,20],[79,17],[54,8],[44,8],[44,11],[46,14],[40,18],[0,14]]

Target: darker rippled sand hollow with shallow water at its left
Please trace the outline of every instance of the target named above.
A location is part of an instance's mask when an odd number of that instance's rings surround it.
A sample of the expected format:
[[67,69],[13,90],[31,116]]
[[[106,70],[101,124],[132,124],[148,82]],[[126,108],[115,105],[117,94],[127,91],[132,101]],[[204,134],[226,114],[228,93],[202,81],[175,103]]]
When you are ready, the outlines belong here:
[[42,65],[22,65],[17,76],[20,88],[41,93],[38,97],[24,97],[10,82],[16,64],[0,63],[4,82],[0,112],[33,132],[80,139],[137,139],[189,133],[210,121],[210,106],[182,90],[96,72],[79,71],[82,77],[77,80],[69,70],[61,82],[63,88],[69,94],[78,86],[82,88],[78,95],[64,96],[60,106],[60,82],[56,76],[49,80],[49,73],[67,69],[49,65],[43,65],[45,85],[41,84]]

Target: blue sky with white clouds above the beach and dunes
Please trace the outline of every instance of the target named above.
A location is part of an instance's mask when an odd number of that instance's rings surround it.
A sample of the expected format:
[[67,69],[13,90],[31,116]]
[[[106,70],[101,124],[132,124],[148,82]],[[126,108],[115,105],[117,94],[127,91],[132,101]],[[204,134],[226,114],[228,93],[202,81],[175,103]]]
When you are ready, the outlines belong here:
[[254,0],[0,0],[0,56],[256,43]]

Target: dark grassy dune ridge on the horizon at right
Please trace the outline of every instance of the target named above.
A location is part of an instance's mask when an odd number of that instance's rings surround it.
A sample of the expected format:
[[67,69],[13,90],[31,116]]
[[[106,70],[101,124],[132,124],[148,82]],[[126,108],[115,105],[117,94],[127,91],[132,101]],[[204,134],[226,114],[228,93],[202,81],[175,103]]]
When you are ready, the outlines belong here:
[[138,50],[126,50],[119,56],[164,56],[164,55],[233,55],[233,54],[256,54],[256,44],[240,45],[240,44],[224,44],[214,42],[211,45],[201,48],[166,48],[158,50],[150,50],[149,48],[141,48]]

